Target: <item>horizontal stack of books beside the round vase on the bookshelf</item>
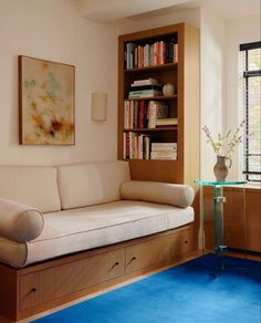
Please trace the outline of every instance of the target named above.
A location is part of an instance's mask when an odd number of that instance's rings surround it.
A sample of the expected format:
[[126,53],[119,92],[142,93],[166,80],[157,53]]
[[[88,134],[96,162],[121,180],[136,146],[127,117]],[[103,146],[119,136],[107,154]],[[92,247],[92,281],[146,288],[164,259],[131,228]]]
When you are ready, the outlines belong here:
[[130,84],[128,98],[163,95],[163,85],[155,79],[137,80]]

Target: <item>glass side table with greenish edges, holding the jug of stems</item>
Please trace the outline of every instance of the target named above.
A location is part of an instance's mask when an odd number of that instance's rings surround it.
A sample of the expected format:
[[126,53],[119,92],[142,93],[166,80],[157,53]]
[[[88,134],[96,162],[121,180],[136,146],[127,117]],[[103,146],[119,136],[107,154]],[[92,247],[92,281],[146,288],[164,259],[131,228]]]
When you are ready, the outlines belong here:
[[[216,264],[213,264],[216,268],[223,270],[226,268],[226,262],[223,259],[223,256],[228,251],[228,246],[225,243],[225,211],[223,211],[223,204],[227,201],[227,198],[223,194],[223,187],[233,187],[233,186],[242,186],[242,210],[241,210],[241,220],[243,220],[243,236],[242,239],[246,241],[246,190],[244,190],[244,184],[247,184],[246,180],[226,180],[226,181],[215,181],[215,180],[195,180],[195,184],[200,185],[200,198],[203,199],[203,187],[209,186],[212,187],[212,195],[213,195],[213,211],[212,211],[212,220],[213,220],[213,252],[216,258]],[[202,239],[201,248],[205,250],[205,210],[202,212],[202,216],[200,217],[200,236]],[[244,243],[244,251],[247,251],[247,246]]]

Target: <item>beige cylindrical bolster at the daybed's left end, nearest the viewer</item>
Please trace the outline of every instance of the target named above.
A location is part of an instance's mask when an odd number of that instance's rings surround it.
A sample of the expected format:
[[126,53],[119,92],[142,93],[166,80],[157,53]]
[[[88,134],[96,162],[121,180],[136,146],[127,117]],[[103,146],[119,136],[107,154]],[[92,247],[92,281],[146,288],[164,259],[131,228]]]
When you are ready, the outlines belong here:
[[0,199],[0,236],[28,242],[40,236],[44,220],[36,209],[11,200]]

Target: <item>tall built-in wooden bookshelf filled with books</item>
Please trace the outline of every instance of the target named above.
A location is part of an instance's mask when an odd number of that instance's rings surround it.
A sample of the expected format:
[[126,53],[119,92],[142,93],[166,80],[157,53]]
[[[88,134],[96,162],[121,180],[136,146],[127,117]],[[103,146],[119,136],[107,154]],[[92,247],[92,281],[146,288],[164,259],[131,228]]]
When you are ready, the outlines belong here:
[[[121,35],[118,64],[118,158],[129,162],[132,178],[197,178],[198,29],[180,23]],[[197,171],[187,169],[192,160]]]

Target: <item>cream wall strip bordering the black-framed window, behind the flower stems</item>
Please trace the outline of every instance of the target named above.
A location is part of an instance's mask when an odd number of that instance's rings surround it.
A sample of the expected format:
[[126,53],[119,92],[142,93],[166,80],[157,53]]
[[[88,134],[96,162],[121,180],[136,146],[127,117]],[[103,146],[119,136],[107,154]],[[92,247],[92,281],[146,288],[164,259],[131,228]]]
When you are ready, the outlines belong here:
[[[226,128],[236,129],[243,119],[239,113],[239,45],[241,43],[255,42],[261,39],[260,14],[230,19],[227,22],[227,108]],[[230,169],[230,178],[240,178],[242,170],[242,155],[240,149],[232,155],[233,166]]]

